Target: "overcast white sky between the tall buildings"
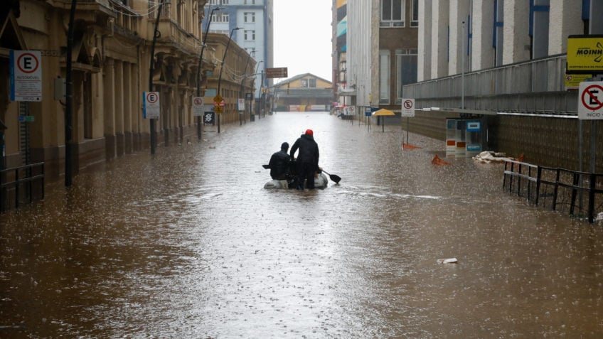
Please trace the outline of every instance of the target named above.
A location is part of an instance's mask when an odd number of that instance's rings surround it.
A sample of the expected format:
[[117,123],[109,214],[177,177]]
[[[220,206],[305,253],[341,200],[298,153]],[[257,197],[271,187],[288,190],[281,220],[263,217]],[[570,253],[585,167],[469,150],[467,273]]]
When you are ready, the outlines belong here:
[[[274,0],[274,67],[332,81],[331,0]],[[282,81],[284,79],[275,79]]]

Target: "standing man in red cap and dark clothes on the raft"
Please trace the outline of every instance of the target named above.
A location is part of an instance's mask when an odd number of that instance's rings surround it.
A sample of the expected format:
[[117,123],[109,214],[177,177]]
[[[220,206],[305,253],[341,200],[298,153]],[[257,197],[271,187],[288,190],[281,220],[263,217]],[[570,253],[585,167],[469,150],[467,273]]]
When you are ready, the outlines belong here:
[[314,189],[314,174],[319,169],[319,145],[314,141],[314,132],[306,129],[305,134],[295,141],[291,147],[291,158],[297,154],[297,189],[303,190],[304,183],[309,190]]

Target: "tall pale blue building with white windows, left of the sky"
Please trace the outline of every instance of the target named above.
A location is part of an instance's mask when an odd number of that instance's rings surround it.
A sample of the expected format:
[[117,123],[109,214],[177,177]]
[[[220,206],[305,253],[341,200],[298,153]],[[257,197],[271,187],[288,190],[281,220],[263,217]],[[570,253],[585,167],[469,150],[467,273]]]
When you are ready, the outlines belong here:
[[[260,96],[262,80],[264,86],[272,85],[272,79],[262,77],[266,68],[272,68],[274,63],[272,18],[273,0],[210,0],[204,7],[206,16],[203,19],[203,31],[206,31],[210,11],[213,11],[210,33],[224,33],[230,35],[235,43],[251,53],[257,61],[257,74],[255,75],[255,97]],[[215,10],[216,8],[220,8]],[[240,28],[240,29],[235,29]],[[234,29],[234,31],[233,31]],[[247,70],[250,76],[256,70]]]

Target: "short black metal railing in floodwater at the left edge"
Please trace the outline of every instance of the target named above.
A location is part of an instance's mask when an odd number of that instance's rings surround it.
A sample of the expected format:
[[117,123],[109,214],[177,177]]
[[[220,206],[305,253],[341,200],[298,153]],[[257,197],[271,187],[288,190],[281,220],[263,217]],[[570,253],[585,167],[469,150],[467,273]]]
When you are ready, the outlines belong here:
[[0,171],[0,212],[19,203],[44,198],[44,163],[32,163]]

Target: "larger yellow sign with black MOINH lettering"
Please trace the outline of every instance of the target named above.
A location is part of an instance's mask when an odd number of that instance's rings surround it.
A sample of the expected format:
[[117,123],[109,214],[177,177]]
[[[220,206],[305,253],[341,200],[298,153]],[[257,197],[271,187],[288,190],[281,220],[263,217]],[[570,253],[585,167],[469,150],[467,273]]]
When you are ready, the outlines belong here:
[[603,36],[569,36],[567,38],[567,73],[603,72]]

